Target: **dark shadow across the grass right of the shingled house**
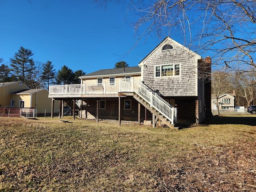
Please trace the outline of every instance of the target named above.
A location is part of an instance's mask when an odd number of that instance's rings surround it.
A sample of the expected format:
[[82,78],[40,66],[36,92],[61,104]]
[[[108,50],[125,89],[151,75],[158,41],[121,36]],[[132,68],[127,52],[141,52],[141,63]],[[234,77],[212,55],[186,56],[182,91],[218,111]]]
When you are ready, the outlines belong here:
[[218,116],[214,115],[208,120],[206,120],[203,124],[242,124],[242,125],[251,125],[251,126],[256,126],[256,116],[251,116],[251,117],[239,117],[239,116]]

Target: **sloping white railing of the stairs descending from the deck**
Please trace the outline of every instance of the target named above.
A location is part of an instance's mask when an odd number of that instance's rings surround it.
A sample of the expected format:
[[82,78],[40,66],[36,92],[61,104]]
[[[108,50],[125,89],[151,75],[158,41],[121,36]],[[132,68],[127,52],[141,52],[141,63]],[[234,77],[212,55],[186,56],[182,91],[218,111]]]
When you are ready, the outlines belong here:
[[131,87],[133,91],[144,99],[150,106],[158,110],[163,116],[170,120],[171,124],[177,121],[177,110],[171,106],[166,100],[160,97],[157,93],[153,92],[142,82],[137,82],[132,79]]

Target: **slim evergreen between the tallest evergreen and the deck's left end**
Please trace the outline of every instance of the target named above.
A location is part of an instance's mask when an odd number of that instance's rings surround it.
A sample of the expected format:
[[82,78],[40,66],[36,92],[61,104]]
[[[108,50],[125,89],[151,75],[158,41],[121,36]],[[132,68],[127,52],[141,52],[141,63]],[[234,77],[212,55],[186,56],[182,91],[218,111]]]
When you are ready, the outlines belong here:
[[55,69],[53,69],[51,61],[47,61],[45,64],[43,64],[43,72],[41,78],[42,82],[46,84],[47,88],[49,88],[49,85],[53,83],[55,74],[56,72]]

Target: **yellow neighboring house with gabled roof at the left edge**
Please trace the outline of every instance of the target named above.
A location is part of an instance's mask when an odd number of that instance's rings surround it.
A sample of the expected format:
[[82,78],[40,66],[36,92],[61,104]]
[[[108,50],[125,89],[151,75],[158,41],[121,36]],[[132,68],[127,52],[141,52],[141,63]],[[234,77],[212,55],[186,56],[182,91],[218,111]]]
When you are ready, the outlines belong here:
[[0,83],[0,107],[34,108],[44,113],[52,106],[48,94],[46,89],[30,89],[23,82]]

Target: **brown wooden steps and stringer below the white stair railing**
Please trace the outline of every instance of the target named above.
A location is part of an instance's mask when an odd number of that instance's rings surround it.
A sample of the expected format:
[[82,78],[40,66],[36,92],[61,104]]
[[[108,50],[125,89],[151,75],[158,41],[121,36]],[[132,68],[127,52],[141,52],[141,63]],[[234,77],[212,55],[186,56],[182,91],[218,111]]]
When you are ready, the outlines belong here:
[[153,119],[153,126],[156,126],[156,122],[158,120],[161,120],[163,124],[166,124],[170,128],[174,128],[174,122],[171,122],[168,118],[166,118],[164,115],[162,115],[158,110],[156,110],[154,107],[150,106],[148,102],[146,102],[144,99],[142,99],[138,94],[134,93],[133,95],[134,99],[136,99],[140,104],[142,104],[146,109],[148,109],[154,116],[156,117]]

